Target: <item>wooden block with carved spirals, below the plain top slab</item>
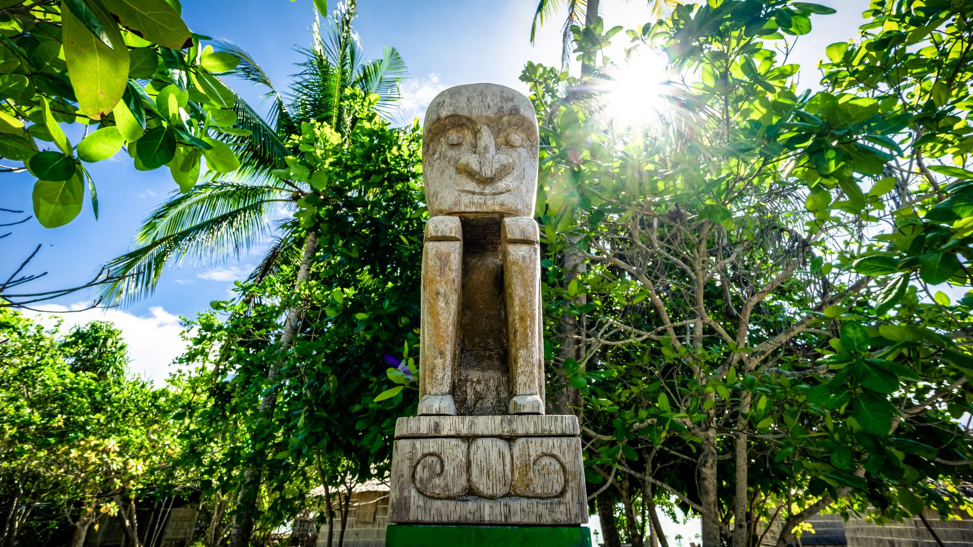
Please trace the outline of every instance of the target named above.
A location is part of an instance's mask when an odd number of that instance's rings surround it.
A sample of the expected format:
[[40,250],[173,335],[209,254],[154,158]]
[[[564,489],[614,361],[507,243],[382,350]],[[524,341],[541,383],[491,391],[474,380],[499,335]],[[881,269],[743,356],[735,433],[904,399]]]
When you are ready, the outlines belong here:
[[[510,457],[498,456],[504,451]],[[509,492],[504,492],[508,476]],[[588,522],[577,437],[527,437],[513,443],[484,437],[469,444],[462,438],[400,439],[393,451],[390,495],[393,523]]]

